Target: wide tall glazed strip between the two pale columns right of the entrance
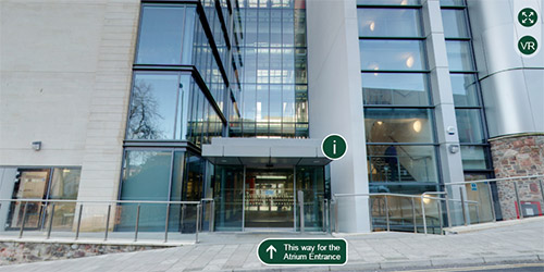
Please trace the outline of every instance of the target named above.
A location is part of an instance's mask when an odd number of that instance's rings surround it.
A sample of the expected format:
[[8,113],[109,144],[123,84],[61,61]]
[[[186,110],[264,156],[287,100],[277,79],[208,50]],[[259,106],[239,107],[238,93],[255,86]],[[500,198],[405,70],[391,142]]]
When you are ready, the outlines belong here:
[[357,1],[371,193],[436,190],[436,128],[419,1]]

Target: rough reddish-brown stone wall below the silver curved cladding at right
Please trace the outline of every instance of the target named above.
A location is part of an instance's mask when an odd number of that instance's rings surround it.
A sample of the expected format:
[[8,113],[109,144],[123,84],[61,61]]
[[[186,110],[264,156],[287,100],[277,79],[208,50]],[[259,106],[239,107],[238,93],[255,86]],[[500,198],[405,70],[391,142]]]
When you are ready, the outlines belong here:
[[[495,176],[514,177],[544,174],[544,134],[506,136],[490,140]],[[524,213],[531,215],[532,209],[540,205],[544,208],[542,186],[544,178],[526,178],[517,182],[518,195]],[[519,218],[516,190],[511,181],[497,182],[498,199],[504,220]],[[529,209],[529,210],[528,210]]]

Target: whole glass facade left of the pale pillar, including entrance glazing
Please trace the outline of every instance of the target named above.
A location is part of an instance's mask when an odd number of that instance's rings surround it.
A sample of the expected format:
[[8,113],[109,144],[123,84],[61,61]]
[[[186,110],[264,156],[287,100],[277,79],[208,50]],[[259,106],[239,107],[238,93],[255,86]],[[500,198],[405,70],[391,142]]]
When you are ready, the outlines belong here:
[[[245,168],[211,164],[201,148],[213,137],[307,138],[306,66],[302,0],[143,1],[120,199],[211,197],[220,203],[218,230],[271,223],[262,218],[293,227],[295,184],[321,181],[313,190],[319,199],[309,201],[322,201],[323,168],[299,169],[298,183],[293,168],[246,175]],[[268,213],[265,195],[276,203]],[[118,230],[134,228],[134,210],[122,206]],[[144,206],[140,215],[152,220],[140,230],[164,228],[166,213],[169,230],[190,228],[177,222],[181,212],[181,206]]]

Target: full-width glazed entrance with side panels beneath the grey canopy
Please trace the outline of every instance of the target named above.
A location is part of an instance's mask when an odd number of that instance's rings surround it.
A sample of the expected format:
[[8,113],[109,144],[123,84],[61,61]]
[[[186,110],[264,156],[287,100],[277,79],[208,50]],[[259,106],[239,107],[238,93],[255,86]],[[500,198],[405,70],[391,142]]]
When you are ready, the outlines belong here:
[[[323,165],[264,168],[215,165],[213,178],[214,230],[271,228],[322,231],[330,183]],[[304,196],[300,214],[298,191]]]

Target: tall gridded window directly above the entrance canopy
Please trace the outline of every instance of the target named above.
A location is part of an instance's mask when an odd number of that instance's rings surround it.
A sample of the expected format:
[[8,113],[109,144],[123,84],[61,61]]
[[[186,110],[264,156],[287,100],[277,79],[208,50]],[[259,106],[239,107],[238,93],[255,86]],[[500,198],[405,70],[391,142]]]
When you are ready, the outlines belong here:
[[242,120],[231,123],[231,137],[308,135],[306,11],[294,3],[239,3],[246,27]]

